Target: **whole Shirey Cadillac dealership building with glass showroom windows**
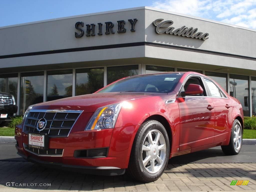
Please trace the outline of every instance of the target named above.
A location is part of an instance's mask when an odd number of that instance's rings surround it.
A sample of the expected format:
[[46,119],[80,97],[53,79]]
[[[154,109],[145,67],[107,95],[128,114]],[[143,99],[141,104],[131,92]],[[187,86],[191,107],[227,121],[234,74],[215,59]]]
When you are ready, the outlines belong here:
[[256,30],[150,7],[0,27],[0,91],[29,105],[122,77],[195,71],[256,115]]

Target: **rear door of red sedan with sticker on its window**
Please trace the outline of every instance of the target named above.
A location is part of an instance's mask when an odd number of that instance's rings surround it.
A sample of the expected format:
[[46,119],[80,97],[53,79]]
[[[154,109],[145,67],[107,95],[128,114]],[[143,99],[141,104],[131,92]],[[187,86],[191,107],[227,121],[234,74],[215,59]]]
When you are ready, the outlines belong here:
[[204,78],[204,81],[215,108],[214,142],[224,141],[232,126],[232,103],[212,80]]

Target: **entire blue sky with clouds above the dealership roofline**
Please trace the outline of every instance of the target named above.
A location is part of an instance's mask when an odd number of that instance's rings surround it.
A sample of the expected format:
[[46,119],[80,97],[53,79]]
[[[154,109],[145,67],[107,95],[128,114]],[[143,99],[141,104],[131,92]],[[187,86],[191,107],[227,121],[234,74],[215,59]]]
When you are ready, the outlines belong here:
[[0,27],[140,6],[156,7],[256,29],[256,0],[2,0]]

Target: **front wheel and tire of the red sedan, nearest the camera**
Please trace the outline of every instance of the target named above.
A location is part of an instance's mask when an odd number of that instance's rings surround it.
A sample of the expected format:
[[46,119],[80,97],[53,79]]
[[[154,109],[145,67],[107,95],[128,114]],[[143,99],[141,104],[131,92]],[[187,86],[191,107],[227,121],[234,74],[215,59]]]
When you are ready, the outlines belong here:
[[127,173],[135,180],[153,182],[164,173],[169,152],[169,138],[165,127],[155,120],[146,121],[134,138]]

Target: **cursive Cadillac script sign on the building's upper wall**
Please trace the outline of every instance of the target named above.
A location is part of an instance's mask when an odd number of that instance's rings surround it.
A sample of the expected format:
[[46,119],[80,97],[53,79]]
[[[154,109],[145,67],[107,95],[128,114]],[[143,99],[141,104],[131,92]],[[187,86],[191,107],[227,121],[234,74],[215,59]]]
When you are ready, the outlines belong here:
[[201,40],[206,40],[209,37],[209,33],[203,33],[203,32],[197,32],[197,28],[193,27],[186,27],[183,26],[181,28],[175,29],[171,25],[173,24],[172,20],[166,20],[163,21],[164,19],[156,19],[152,23],[156,28],[155,32],[156,34],[173,34],[173,35],[178,35],[178,36],[184,36],[184,37],[190,37],[190,38],[196,38],[196,39],[201,39]]

